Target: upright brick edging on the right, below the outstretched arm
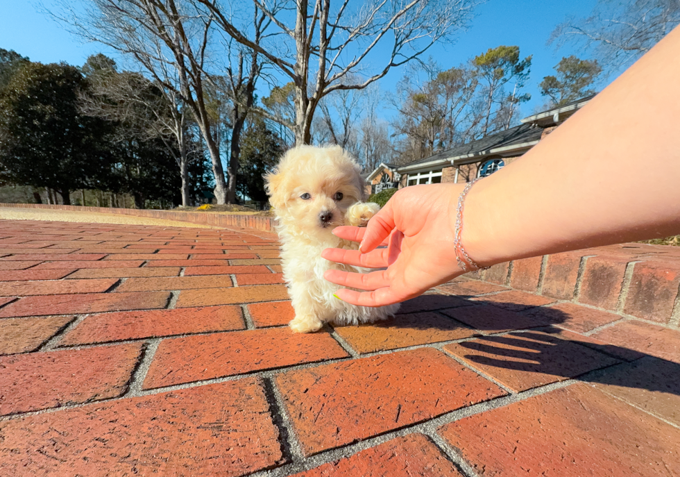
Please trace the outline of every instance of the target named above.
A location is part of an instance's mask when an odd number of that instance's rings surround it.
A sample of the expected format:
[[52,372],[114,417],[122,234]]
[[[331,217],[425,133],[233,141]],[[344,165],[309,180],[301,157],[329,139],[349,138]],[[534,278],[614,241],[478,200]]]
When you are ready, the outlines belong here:
[[468,276],[680,328],[679,247],[603,246],[499,263]]

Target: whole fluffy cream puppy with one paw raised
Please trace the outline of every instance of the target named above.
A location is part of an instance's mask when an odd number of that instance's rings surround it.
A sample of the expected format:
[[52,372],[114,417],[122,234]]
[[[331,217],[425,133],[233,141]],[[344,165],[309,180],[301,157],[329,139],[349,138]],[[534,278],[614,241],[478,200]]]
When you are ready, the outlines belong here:
[[332,230],[365,225],[380,207],[364,203],[366,192],[359,166],[341,147],[301,146],[290,149],[265,176],[269,201],[278,221],[284,280],[295,309],[292,330],[316,331],[325,322],[370,323],[394,315],[398,305],[354,306],[333,296],[338,290],[323,278],[328,269],[367,271],[321,258],[329,247],[358,249]]

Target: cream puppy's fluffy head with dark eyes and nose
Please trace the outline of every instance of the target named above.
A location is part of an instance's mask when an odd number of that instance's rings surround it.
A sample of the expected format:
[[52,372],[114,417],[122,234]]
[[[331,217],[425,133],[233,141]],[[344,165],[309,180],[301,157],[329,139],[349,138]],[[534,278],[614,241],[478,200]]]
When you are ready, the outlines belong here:
[[297,147],[266,179],[276,215],[309,237],[328,237],[347,208],[364,199],[359,167],[340,147]]

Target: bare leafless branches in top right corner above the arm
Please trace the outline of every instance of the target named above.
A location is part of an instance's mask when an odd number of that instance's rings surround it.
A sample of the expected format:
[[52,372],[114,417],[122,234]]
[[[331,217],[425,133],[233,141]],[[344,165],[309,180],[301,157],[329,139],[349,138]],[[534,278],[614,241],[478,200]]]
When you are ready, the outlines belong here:
[[592,49],[605,72],[643,56],[680,24],[680,0],[600,0],[590,16],[570,18],[552,32],[558,47]]

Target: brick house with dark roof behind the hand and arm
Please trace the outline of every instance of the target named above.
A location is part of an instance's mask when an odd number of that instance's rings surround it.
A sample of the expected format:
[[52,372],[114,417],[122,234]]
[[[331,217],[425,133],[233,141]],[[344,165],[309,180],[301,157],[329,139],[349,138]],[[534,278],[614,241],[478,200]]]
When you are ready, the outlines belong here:
[[[593,95],[594,96],[594,95]],[[464,183],[493,174],[518,160],[593,96],[525,117],[522,124],[461,144],[407,165],[382,162],[366,177],[366,192],[441,182]]]

